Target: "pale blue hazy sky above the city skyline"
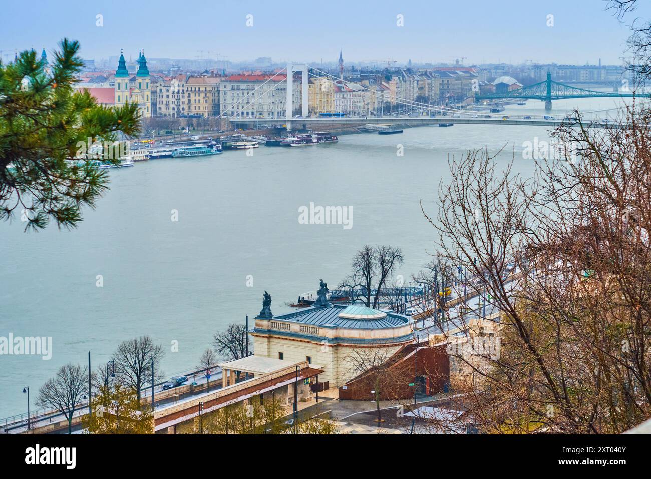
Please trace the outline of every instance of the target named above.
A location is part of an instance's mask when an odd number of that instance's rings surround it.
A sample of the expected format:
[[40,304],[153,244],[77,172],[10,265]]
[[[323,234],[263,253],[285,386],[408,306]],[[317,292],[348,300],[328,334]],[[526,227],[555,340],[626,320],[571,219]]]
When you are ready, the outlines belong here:
[[[629,31],[603,0],[418,1],[44,1],[1,0],[0,50],[45,46],[63,37],[81,42],[85,58],[107,58],[124,48],[136,57],[231,61],[454,61],[466,64],[620,64]],[[96,26],[96,15],[104,26]],[[253,26],[247,26],[247,15]],[[396,25],[401,14],[404,26]],[[553,14],[553,26],[547,15]],[[651,1],[635,16],[651,18]],[[205,50],[200,53],[199,50]],[[212,50],[212,53],[207,51]],[[3,56],[3,60],[7,57]]]

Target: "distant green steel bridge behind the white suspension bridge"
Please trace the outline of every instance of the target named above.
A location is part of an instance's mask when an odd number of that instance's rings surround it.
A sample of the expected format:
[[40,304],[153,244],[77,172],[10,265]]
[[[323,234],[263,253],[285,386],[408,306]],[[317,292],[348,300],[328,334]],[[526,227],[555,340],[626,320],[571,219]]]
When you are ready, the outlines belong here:
[[571,87],[564,83],[551,80],[551,73],[547,72],[547,80],[540,81],[528,87],[522,87],[517,90],[506,91],[504,93],[479,94],[475,100],[497,100],[497,99],[529,99],[542,100],[545,102],[545,108],[551,109],[551,100],[564,100],[566,98],[600,98],[600,97],[649,97],[651,93],[606,93],[603,91],[586,90],[583,88]]

